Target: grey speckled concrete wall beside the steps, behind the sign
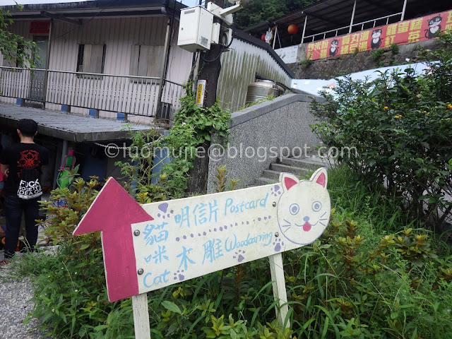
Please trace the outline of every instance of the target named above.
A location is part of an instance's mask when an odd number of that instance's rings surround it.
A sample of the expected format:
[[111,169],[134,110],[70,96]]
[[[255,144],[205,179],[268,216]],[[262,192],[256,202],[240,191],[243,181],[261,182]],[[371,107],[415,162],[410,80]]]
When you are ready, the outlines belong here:
[[228,147],[211,148],[208,192],[215,191],[217,167],[225,165],[227,177],[239,179],[239,187],[243,188],[254,184],[276,157],[287,156],[289,152],[299,155],[319,145],[309,127],[316,121],[309,112],[313,98],[303,94],[283,95],[234,112]]

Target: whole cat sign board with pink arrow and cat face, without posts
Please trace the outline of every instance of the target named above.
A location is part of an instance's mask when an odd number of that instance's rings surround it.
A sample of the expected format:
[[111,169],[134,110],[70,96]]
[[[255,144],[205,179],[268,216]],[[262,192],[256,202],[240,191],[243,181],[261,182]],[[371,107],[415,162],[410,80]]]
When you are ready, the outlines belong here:
[[[321,168],[309,180],[283,173],[275,184],[140,206],[110,178],[74,234],[103,225],[113,302],[311,244],[330,218],[327,182]],[[117,199],[122,208],[112,208]],[[110,218],[121,209],[126,218]],[[118,237],[119,227],[124,237]],[[121,279],[126,283],[119,286]]]

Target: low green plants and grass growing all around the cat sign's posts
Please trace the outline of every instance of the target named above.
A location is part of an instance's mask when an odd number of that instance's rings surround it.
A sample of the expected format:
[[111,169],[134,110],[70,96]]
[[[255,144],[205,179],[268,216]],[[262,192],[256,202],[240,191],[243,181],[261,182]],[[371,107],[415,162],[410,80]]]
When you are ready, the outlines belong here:
[[[234,186],[224,169],[217,177],[218,191]],[[328,182],[335,211],[326,232],[284,254],[292,328],[274,320],[270,270],[261,259],[149,292],[152,335],[448,338],[448,247],[410,227],[391,198],[369,191],[345,167],[330,170]],[[55,254],[27,255],[15,263],[18,273],[35,275],[30,318],[58,338],[134,338],[131,299],[107,301],[99,234],[71,236],[97,184],[95,178],[77,179],[64,191],[70,209],[48,206],[55,217],[47,232],[65,239]]]

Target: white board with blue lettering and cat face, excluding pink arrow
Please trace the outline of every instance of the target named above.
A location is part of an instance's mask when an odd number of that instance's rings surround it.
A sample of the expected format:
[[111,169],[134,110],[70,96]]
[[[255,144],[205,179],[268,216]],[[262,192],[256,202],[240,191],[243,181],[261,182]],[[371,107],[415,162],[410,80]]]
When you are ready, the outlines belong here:
[[131,225],[140,293],[310,244],[331,210],[325,169],[142,207],[154,220]]

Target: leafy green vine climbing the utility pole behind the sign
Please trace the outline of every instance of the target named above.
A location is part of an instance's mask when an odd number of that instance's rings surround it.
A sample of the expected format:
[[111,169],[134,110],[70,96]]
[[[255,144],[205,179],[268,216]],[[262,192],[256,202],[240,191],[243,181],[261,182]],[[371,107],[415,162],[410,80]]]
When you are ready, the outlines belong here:
[[[140,203],[185,196],[198,147],[210,141],[214,133],[218,142],[227,143],[229,110],[222,109],[218,100],[211,107],[200,107],[190,84],[185,91],[169,134],[163,136],[155,129],[134,132],[126,152],[129,161],[115,162],[129,181],[129,192],[136,194]],[[154,155],[160,160],[156,161]],[[208,156],[206,152],[203,155]],[[153,173],[156,165],[162,165],[159,174]]]

